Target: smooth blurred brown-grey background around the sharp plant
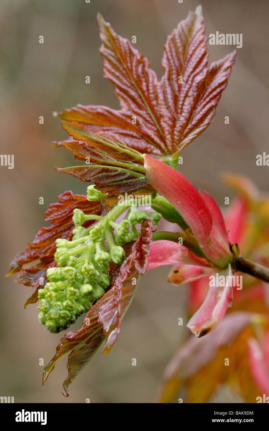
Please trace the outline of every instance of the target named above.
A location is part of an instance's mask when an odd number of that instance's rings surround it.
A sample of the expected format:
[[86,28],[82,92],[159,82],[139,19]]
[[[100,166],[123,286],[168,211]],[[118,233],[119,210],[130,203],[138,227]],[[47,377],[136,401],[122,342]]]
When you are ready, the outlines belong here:
[[[86,193],[86,184],[55,172],[72,166],[73,156],[51,141],[65,137],[53,111],[77,103],[119,108],[113,86],[103,78],[97,12],[115,31],[131,39],[162,76],[161,57],[167,34],[201,3],[207,35],[242,33],[243,46],[209,128],[181,153],[180,172],[214,196],[220,206],[232,192],[220,172],[249,175],[269,189],[268,167],[256,166],[256,155],[268,151],[268,18],[266,0],[2,0],[0,3],[1,153],[14,154],[14,169],[1,176],[0,395],[15,403],[150,403],[162,372],[189,332],[185,325],[187,286],[167,283],[169,267],[147,272],[126,313],[122,332],[108,355],[99,350],[61,394],[66,359],[57,362],[42,389],[43,367],[52,358],[60,334],[37,322],[36,305],[24,310],[33,289],[4,278],[9,262],[24,250],[44,225],[43,213],[65,190]],[[39,43],[39,36],[44,43]],[[232,51],[209,46],[210,62]],[[91,84],[85,83],[89,75]],[[39,124],[39,117],[44,124]],[[224,117],[229,116],[229,125]],[[44,198],[44,205],[39,204]],[[178,325],[182,317],[184,325]],[[73,330],[79,329],[83,317]],[[132,358],[137,366],[132,366]],[[211,402],[240,402],[225,386]]]

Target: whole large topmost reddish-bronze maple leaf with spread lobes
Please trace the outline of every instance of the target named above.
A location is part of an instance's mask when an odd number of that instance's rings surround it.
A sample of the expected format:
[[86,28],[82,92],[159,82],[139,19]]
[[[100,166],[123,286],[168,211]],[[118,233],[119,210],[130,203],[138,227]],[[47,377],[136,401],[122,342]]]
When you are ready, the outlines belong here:
[[236,51],[208,66],[203,22],[199,6],[168,36],[158,82],[148,59],[98,14],[104,77],[122,109],[79,104],[58,116],[113,134],[141,153],[177,154],[210,124],[235,61]]

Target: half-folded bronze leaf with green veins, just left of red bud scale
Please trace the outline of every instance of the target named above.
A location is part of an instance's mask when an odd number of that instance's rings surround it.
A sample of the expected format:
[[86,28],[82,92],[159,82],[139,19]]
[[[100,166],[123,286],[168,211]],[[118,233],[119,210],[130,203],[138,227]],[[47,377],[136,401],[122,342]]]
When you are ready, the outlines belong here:
[[111,206],[119,194],[138,192],[149,194],[154,191],[145,176],[144,158],[115,137],[97,135],[77,122],[62,121],[62,126],[77,141],[62,142],[71,150],[77,160],[92,164],[55,168],[79,178],[81,181],[94,181],[98,190],[108,193],[106,202]]

